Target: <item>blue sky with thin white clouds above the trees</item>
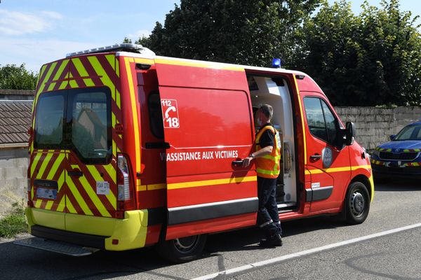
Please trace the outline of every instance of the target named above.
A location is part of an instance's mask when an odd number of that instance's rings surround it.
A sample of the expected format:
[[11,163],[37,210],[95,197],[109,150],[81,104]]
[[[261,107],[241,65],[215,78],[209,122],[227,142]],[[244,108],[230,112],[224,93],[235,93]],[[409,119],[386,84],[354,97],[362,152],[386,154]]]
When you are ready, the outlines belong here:
[[[333,3],[333,0],[329,0]],[[42,64],[69,52],[149,36],[179,0],[0,0],[0,66]],[[352,0],[354,13],[363,0]],[[368,0],[380,6],[380,0]],[[421,15],[420,0],[400,0],[401,10]],[[418,21],[419,23],[420,20]]]

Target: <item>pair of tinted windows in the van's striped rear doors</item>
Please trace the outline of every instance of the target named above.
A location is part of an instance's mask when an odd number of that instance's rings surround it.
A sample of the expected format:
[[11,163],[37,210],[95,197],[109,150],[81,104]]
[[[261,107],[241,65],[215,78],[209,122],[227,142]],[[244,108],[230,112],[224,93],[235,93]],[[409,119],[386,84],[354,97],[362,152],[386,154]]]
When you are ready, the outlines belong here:
[[36,105],[34,148],[69,149],[85,163],[112,155],[110,92],[107,87],[41,94]]

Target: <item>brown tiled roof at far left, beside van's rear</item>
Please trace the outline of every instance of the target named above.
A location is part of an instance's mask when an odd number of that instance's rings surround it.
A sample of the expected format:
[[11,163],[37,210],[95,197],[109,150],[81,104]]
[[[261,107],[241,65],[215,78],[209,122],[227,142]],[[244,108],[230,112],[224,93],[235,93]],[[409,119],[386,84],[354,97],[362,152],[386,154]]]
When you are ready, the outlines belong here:
[[0,101],[0,144],[27,143],[32,101]]

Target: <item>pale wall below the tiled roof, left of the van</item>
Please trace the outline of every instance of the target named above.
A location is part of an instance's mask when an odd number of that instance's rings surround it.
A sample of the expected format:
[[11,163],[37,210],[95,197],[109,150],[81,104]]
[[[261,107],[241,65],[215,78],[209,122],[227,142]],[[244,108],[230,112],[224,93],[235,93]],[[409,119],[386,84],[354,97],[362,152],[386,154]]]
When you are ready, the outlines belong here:
[[14,202],[26,204],[27,167],[27,148],[0,149],[0,216]]

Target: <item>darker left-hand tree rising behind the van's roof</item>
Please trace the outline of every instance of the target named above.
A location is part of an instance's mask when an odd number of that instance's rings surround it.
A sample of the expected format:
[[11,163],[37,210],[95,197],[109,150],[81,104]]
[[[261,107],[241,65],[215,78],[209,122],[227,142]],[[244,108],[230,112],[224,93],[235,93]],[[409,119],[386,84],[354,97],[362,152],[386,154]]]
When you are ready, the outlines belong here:
[[136,43],[158,55],[268,66],[290,60],[295,31],[319,0],[181,0]]

